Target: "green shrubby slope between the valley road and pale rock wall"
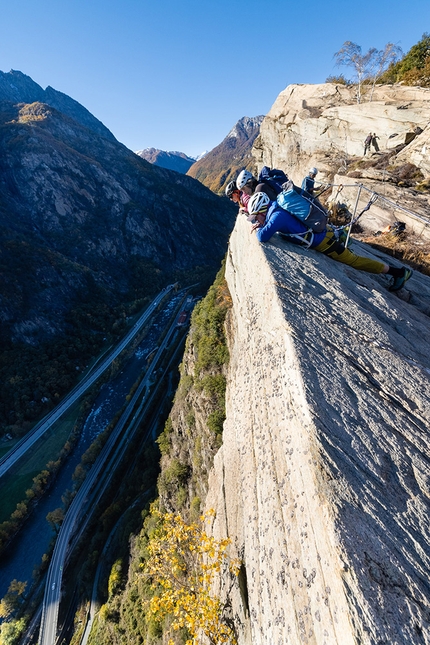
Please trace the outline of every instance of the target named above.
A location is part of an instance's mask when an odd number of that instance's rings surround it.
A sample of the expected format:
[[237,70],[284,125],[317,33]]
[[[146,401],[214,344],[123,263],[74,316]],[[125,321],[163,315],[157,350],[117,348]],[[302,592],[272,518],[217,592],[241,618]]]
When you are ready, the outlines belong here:
[[[191,557],[192,566],[199,570],[193,549],[202,544],[201,505],[207,494],[214,455],[222,443],[225,371],[229,358],[225,322],[230,308],[231,297],[222,270],[193,312],[179,387],[165,429],[157,441],[162,467],[158,478],[159,497],[151,511],[145,512],[142,531],[131,540],[129,566],[124,561],[112,566],[109,595],[91,631],[91,645],[143,642],[161,645],[167,632],[179,644],[189,635],[186,628],[170,631],[171,618],[162,619],[162,614],[150,610],[149,603],[158,597],[159,587],[151,586],[144,568],[150,545],[160,539],[163,523],[167,522],[170,533],[183,530],[193,533],[191,551],[186,548],[186,557]],[[179,513],[185,523],[169,519],[169,513]],[[190,591],[192,584],[187,575],[182,583]],[[191,610],[190,615],[196,618],[197,610]],[[201,625],[205,621],[209,624],[208,612],[203,611],[199,620]]]

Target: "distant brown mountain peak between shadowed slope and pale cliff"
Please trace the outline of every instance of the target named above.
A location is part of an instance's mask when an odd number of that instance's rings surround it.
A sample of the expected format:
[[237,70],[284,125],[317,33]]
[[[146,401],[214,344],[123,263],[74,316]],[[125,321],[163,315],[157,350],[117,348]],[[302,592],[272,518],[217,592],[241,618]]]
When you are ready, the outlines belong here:
[[222,193],[226,184],[243,168],[255,169],[252,145],[260,132],[263,116],[244,116],[216,148],[197,161],[188,171],[215,193]]

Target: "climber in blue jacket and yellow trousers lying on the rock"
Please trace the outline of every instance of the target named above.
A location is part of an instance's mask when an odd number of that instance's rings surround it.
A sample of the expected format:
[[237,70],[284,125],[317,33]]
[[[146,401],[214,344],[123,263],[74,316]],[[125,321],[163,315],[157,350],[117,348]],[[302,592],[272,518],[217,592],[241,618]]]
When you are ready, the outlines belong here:
[[401,289],[412,275],[412,270],[407,267],[393,267],[385,262],[356,255],[353,251],[345,248],[342,240],[338,239],[334,229],[330,226],[327,226],[321,233],[314,233],[289,211],[281,208],[277,202],[271,202],[266,193],[254,193],[247,207],[249,215],[253,215],[256,219],[251,232],[256,231],[260,242],[267,242],[275,233],[281,233],[283,236],[287,236],[288,241],[293,244],[300,244],[320,251],[329,258],[348,264],[354,269],[368,273],[386,273],[392,276],[390,291]]

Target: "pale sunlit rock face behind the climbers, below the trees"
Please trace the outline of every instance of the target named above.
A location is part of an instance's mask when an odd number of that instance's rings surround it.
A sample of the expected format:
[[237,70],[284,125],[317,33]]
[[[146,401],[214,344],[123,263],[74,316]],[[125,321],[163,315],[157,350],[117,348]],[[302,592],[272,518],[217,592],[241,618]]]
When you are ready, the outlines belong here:
[[[363,184],[381,195],[362,219],[369,229],[376,231],[400,219],[408,230],[422,234],[425,229],[423,234],[430,237],[429,121],[430,89],[377,86],[371,101],[368,92],[358,104],[355,88],[332,83],[289,85],[261,124],[253,154],[259,168],[282,168],[299,185],[308,168],[316,166],[320,182],[344,186],[339,199],[351,211],[357,186]],[[379,137],[380,151],[372,148],[364,157],[369,132]],[[369,196],[363,191],[359,210]]]

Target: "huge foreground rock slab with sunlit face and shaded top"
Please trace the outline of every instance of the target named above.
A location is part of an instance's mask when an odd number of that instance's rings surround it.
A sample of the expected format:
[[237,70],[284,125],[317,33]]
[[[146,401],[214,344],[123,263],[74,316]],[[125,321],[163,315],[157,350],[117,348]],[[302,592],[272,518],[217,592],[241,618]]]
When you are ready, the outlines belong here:
[[414,274],[405,302],[383,276],[259,245],[248,226],[228,252],[227,419],[206,500],[244,562],[238,642],[430,643],[430,278]]

